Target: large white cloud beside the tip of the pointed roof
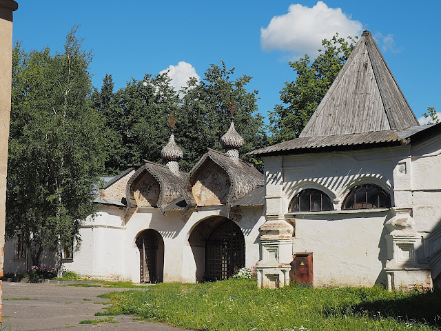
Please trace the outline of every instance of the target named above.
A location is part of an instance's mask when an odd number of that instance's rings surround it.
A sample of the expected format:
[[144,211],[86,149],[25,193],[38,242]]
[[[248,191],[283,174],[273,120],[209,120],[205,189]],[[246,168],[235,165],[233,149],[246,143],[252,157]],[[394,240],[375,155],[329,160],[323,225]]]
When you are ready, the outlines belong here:
[[267,28],[260,28],[260,45],[264,50],[285,50],[294,57],[305,53],[316,57],[322,39],[360,35],[362,23],[352,20],[341,8],[329,8],[323,1],[309,8],[300,4],[289,6],[288,13],[275,16]]

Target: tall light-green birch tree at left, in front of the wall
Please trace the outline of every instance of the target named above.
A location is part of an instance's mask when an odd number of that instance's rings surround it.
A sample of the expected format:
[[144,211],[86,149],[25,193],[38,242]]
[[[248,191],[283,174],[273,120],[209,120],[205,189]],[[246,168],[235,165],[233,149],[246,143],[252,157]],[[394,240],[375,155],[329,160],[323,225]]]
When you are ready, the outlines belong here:
[[6,234],[23,234],[32,263],[81,240],[103,170],[103,124],[88,104],[92,54],[74,26],[63,52],[14,47]]

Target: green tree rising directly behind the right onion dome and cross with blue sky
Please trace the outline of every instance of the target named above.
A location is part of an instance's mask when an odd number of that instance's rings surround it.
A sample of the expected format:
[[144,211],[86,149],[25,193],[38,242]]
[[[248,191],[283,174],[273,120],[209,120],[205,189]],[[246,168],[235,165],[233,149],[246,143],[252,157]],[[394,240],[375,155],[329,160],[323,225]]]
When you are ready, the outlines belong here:
[[[227,69],[212,64],[202,81],[190,79],[183,89],[184,97],[176,114],[176,142],[184,150],[183,168],[189,170],[207,151],[207,148],[223,150],[220,137],[227,132],[232,121],[234,101],[234,125],[245,143],[240,154],[267,145],[263,117],[258,114],[257,94],[248,92],[247,83],[252,77],[243,75],[232,79],[235,68]],[[260,161],[249,159],[256,165]]]

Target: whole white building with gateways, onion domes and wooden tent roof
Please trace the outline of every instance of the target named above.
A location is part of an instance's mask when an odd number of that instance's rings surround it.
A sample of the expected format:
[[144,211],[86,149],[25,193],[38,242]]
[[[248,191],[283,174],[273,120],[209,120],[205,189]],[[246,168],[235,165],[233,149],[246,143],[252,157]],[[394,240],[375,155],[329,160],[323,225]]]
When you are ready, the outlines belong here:
[[[172,135],[166,165],[107,178],[65,268],[134,282],[251,265],[268,287],[440,282],[441,123],[419,126],[369,32],[300,137],[251,153],[265,176],[240,160],[233,123],[222,140],[227,153],[208,150],[188,174]],[[25,268],[19,248],[6,244],[5,271]]]

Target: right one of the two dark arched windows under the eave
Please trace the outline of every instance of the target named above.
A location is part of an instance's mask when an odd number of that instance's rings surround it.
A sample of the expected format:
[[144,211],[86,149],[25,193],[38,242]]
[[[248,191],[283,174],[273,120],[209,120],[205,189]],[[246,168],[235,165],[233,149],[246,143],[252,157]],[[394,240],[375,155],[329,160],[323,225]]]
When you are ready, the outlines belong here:
[[380,186],[373,184],[358,185],[352,188],[343,202],[343,210],[390,208],[391,197]]

